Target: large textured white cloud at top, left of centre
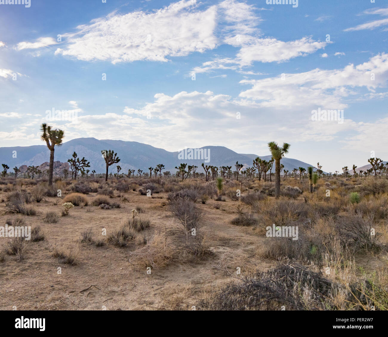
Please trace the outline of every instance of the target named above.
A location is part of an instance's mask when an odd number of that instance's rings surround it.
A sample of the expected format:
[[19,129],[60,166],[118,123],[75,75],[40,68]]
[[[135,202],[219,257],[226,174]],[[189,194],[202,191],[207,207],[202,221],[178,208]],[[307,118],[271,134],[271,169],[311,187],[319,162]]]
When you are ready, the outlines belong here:
[[167,61],[215,48],[217,9],[198,10],[196,3],[182,0],[154,12],[111,13],[64,34],[67,45],[55,54],[80,60]]

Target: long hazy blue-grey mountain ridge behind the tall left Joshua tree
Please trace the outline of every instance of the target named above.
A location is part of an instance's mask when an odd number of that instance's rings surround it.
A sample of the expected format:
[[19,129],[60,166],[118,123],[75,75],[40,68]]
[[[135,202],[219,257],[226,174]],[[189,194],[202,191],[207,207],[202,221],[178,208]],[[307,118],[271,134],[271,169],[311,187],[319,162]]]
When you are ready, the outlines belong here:
[[[63,143],[60,147],[55,147],[54,160],[60,162],[67,162],[71,158],[73,152],[78,154],[78,157],[85,157],[90,161],[90,171],[95,170],[97,173],[105,172],[105,161],[102,157],[101,150],[113,150],[117,152],[121,161],[118,165],[122,170],[120,173],[128,173],[128,169],[143,170],[149,172],[148,168],[156,167],[157,164],[164,164],[165,171],[175,173],[175,166],[179,166],[182,162],[187,162],[190,165],[198,166],[197,172],[203,171],[201,164],[204,159],[178,159],[177,152],[169,152],[164,149],[158,149],[151,145],[139,142],[126,142],[123,140],[109,140],[96,138],[76,138]],[[238,161],[244,164],[244,168],[252,167],[253,159],[260,157],[261,159],[269,160],[271,156],[258,156],[255,154],[239,154],[224,146],[204,146],[200,149],[210,150],[210,161],[205,162],[205,165],[213,166],[232,166]],[[13,151],[16,151],[16,158],[12,156]],[[34,165],[39,166],[44,162],[50,160],[50,151],[46,145],[32,145],[32,146],[16,146],[16,147],[0,147],[0,163],[7,164],[11,169],[15,166]],[[294,168],[314,166],[305,162],[283,158],[281,163],[284,169],[292,171]],[[273,171],[275,170],[275,166]],[[110,166],[109,172],[117,172],[116,164]]]

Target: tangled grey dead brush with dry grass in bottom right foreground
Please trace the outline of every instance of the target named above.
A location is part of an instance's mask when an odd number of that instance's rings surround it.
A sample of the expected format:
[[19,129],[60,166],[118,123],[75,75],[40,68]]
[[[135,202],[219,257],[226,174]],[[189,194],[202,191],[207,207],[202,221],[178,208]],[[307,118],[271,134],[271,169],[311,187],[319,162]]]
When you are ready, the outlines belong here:
[[[343,298],[340,307],[338,296]],[[282,306],[286,310],[362,310],[373,304],[386,309],[387,298],[387,292],[372,282],[361,280],[347,287],[322,276],[314,266],[288,262],[232,281],[200,306],[207,310],[281,310]]]

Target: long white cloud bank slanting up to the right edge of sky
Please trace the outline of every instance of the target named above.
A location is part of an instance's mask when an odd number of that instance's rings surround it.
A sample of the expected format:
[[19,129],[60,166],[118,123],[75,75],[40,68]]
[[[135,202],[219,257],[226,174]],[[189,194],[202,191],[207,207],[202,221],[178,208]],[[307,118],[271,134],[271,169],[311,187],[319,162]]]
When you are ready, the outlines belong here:
[[[371,74],[375,80],[371,80]],[[344,109],[348,104],[344,99],[359,97],[357,88],[375,92],[386,86],[388,79],[388,54],[379,54],[368,62],[343,69],[314,69],[306,73],[285,74],[285,78],[265,78],[243,80],[240,83],[252,85],[251,89],[240,93],[240,97],[253,100],[260,107],[311,107]]]

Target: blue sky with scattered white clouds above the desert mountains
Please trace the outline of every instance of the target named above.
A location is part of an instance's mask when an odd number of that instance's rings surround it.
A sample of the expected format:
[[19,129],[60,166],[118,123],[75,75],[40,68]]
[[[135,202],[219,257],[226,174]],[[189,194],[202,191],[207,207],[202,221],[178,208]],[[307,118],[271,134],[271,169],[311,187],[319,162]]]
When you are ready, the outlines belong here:
[[326,172],[388,160],[386,1],[103,1],[0,0],[1,147],[48,123],[168,151],[287,142]]

